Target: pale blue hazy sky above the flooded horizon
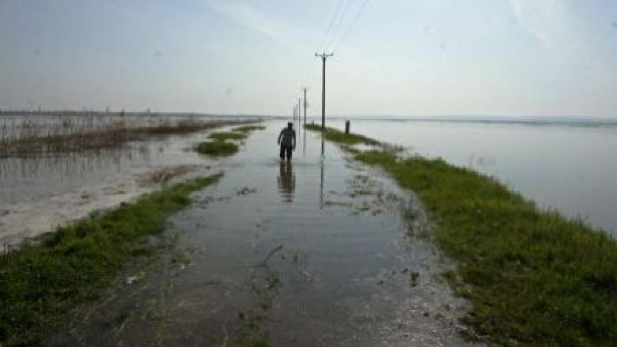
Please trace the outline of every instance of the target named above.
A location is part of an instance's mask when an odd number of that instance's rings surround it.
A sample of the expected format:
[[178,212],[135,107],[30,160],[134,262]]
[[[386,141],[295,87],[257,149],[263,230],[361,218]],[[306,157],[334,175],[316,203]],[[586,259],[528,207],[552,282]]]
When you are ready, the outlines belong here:
[[615,0],[0,0],[0,109],[617,117]]

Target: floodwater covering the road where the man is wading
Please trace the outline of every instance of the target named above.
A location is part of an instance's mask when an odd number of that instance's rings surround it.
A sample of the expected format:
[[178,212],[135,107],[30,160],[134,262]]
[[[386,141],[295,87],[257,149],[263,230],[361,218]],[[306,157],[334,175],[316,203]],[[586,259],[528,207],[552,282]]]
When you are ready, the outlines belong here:
[[173,217],[164,256],[52,345],[465,345],[468,306],[440,280],[410,193],[314,133],[281,163],[281,126],[218,162],[225,177]]

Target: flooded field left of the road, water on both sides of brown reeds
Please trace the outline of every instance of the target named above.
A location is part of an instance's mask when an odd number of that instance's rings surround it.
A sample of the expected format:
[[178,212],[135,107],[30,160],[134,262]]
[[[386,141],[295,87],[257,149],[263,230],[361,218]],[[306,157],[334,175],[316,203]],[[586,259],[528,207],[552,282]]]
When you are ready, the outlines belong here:
[[[100,118],[100,117],[99,117]],[[234,119],[226,119],[234,120]],[[183,117],[0,117],[4,141],[15,137],[44,138],[67,132],[107,129],[114,122],[125,128],[157,128],[187,122]],[[214,117],[191,120],[217,122]],[[65,127],[66,124],[72,127]],[[22,130],[21,127],[30,127]],[[73,127],[74,125],[74,127]],[[28,133],[30,135],[24,135]],[[52,135],[49,135],[52,134]],[[22,137],[20,137],[22,136]],[[89,212],[115,206],[151,191],[171,177],[152,179],[164,170],[186,174],[208,165],[192,148],[204,132],[143,136],[99,149],[47,150],[35,154],[0,156],[0,243],[16,243],[25,236],[51,230]]]

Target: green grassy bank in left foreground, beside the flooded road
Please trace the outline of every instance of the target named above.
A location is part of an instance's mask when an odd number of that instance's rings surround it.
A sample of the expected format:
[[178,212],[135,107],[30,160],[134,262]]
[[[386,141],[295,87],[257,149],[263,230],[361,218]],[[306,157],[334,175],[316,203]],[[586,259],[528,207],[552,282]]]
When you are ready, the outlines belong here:
[[1,254],[0,345],[40,343],[78,305],[96,299],[126,261],[149,253],[146,237],[220,176],[155,191]]

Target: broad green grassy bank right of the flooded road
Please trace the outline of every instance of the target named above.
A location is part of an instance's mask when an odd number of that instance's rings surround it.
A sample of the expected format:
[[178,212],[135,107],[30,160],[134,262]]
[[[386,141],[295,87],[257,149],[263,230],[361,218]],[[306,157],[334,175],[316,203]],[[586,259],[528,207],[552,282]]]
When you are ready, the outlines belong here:
[[602,230],[441,159],[381,149],[355,159],[418,194],[457,261],[446,277],[473,303],[465,320],[476,333],[501,345],[617,345],[617,245]]

